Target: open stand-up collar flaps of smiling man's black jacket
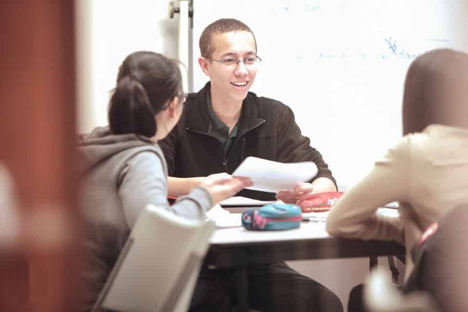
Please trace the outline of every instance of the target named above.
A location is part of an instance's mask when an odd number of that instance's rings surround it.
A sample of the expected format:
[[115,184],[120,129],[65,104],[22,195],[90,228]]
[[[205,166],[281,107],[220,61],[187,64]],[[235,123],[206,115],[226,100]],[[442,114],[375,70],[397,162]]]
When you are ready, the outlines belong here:
[[[191,113],[188,116],[187,126],[195,131],[208,133],[210,128],[210,116],[206,98],[208,91],[211,89],[211,82],[208,81],[203,89],[198,93],[193,93],[189,96],[186,103],[186,108],[189,108]],[[242,112],[240,114],[239,131],[244,133],[247,129],[254,127],[257,124],[264,122],[264,114],[261,112],[258,105],[259,98],[253,93],[247,93],[247,97],[242,102]],[[188,104],[188,105],[187,105]]]

